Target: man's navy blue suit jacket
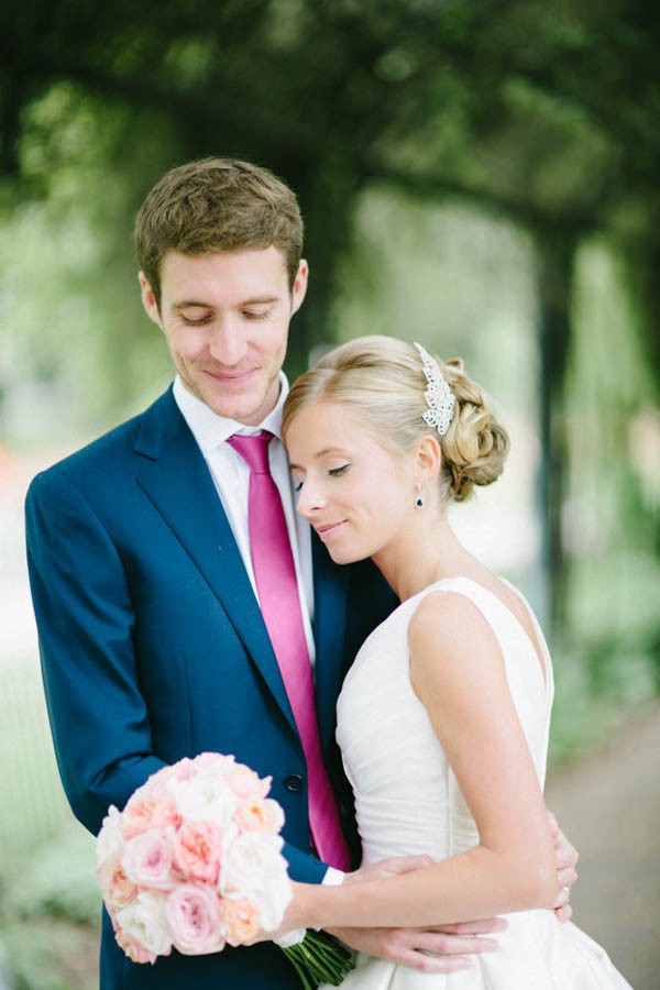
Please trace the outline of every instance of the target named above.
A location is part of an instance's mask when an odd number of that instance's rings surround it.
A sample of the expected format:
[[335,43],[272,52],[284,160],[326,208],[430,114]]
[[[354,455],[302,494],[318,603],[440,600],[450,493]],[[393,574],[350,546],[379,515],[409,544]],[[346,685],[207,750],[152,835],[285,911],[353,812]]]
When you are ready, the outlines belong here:
[[[97,833],[164,763],[234,754],[283,806],[294,879],[309,851],[305,758],[257,602],[201,452],[172,396],[37,475],[28,558],[48,714],[74,813]],[[394,597],[367,561],[336,566],[314,544],[321,741],[356,850],[333,740],[348,666]],[[299,787],[302,781],[302,787]],[[103,990],[298,988],[278,948],[130,963],[103,920]]]

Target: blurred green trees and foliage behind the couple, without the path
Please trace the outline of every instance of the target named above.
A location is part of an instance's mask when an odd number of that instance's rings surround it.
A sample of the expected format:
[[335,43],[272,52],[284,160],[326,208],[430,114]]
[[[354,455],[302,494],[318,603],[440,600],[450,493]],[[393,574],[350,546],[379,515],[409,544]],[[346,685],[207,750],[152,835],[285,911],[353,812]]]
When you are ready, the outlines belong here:
[[246,157],[298,194],[311,284],[290,375],[334,341],[391,333],[463,355],[496,397],[510,464],[454,521],[549,634],[554,765],[652,706],[659,40],[640,0],[0,10],[0,937],[15,987],[96,986],[98,917],[94,843],[45,721],[22,497],[169,382],[131,230],[176,164]]

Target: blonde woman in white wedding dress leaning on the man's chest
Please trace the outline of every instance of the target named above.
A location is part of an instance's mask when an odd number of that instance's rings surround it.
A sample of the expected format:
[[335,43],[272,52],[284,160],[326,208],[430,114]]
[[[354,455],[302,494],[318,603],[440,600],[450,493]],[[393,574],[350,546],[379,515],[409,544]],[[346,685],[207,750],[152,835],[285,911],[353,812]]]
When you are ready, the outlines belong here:
[[[363,867],[422,869],[294,884],[286,927],[431,926],[507,913],[497,953],[451,975],[360,955],[346,990],[615,990],[606,953],[556,902],[543,803],[552,667],[513,585],[446,517],[502,473],[508,438],[461,361],[385,337],[354,340],[293,386],[284,440],[298,512],[338,563],[371,557],[400,605],[344,682],[337,738]],[[493,519],[497,526],[498,520]]]

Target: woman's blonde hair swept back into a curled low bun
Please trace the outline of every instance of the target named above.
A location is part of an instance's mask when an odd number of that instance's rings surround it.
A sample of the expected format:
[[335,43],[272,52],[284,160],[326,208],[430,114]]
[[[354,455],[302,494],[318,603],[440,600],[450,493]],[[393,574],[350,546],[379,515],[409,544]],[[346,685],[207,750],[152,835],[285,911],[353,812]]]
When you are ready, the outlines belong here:
[[464,502],[474,485],[490,485],[502,474],[508,435],[484,389],[463,371],[462,360],[436,360],[455,398],[443,437],[422,419],[428,383],[420,355],[405,341],[378,336],[334,348],[294,383],[284,406],[283,433],[286,437],[298,413],[324,399],[354,406],[364,428],[391,450],[408,451],[425,435],[435,436],[442,451],[442,502]]

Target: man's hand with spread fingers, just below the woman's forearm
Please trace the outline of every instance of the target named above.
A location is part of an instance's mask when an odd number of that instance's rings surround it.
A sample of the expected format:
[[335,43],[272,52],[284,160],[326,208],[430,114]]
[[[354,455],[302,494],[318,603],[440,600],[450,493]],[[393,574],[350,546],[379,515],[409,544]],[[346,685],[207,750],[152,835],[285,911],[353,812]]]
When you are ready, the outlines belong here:
[[420,972],[455,972],[472,966],[470,956],[493,953],[494,938],[486,935],[504,932],[502,917],[463,922],[430,928],[331,928],[351,948],[388,963],[410,966]]

